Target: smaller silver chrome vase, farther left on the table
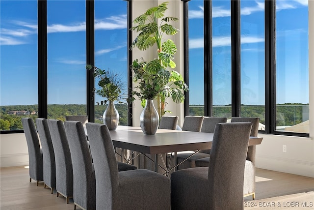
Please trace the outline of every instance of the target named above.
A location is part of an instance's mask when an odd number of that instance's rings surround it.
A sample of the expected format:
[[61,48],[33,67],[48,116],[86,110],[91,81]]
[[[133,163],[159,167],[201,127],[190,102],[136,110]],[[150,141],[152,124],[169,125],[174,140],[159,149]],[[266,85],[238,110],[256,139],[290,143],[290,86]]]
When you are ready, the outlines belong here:
[[113,101],[109,101],[103,115],[104,124],[107,125],[109,130],[115,130],[118,127],[119,118],[118,110],[114,106]]

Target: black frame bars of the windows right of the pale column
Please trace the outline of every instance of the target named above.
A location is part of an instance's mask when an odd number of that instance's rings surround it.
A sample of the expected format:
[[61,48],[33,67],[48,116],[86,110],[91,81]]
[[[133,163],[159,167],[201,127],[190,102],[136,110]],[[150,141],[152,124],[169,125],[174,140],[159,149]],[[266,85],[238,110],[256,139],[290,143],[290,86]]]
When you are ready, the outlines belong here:
[[[188,1],[183,0],[183,28],[188,33]],[[232,66],[232,117],[241,117],[241,42],[240,42],[240,2],[231,3],[231,66]],[[309,133],[276,131],[276,1],[264,0],[265,31],[265,130],[262,134],[310,137]],[[212,1],[204,0],[204,113],[212,116]],[[188,43],[188,34],[184,35]],[[184,47],[188,44],[184,44]],[[188,50],[184,49],[184,58]],[[188,65],[188,61],[184,61]],[[184,80],[188,81],[188,67],[184,66]],[[188,85],[188,83],[187,83]],[[188,93],[187,93],[188,94]],[[184,101],[184,116],[188,115],[189,101]]]

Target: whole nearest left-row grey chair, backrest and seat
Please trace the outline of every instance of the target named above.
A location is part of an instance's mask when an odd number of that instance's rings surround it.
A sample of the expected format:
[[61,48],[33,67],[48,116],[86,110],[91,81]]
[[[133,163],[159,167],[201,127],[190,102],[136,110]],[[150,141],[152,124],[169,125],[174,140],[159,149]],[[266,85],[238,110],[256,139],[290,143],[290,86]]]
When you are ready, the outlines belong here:
[[169,210],[170,179],[147,169],[118,171],[106,125],[86,123],[96,177],[96,210]]

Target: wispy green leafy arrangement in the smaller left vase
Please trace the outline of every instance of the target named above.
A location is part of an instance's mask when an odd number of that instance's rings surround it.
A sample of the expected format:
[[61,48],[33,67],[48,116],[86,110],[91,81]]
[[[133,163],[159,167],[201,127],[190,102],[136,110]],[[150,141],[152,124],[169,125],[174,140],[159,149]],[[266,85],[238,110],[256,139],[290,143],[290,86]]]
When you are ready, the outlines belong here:
[[94,92],[101,97],[106,98],[97,105],[105,105],[107,101],[116,101],[119,104],[127,104],[126,101],[131,100],[125,90],[127,85],[122,82],[121,75],[116,74],[112,70],[103,70],[90,64],[86,65],[86,69],[94,71],[95,81],[98,82],[99,89]]

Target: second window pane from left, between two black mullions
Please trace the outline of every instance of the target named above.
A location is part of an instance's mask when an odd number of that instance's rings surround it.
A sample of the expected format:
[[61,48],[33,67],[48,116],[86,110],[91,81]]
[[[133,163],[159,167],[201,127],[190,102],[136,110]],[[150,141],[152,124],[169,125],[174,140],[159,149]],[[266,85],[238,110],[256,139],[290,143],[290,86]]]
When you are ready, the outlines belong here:
[[50,119],[86,115],[85,10],[82,0],[47,1]]

